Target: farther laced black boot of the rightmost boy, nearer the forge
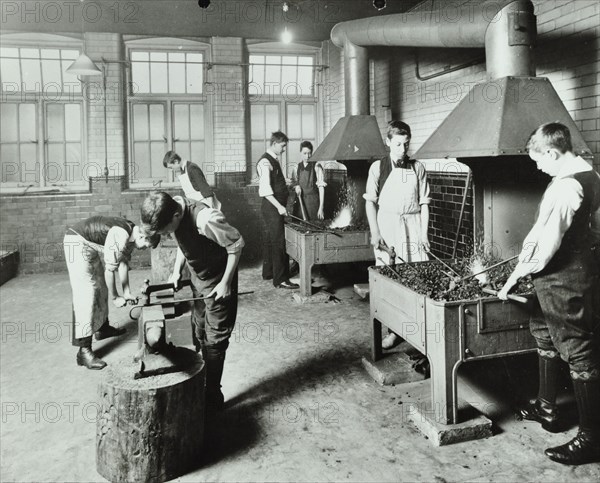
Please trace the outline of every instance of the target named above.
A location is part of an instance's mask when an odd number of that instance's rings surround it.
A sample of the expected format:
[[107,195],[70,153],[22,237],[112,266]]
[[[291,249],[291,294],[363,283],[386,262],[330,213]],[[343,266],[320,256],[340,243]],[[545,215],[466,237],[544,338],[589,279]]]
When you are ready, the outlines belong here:
[[559,419],[556,394],[558,393],[558,374],[560,357],[538,356],[540,387],[536,399],[530,400],[518,411],[522,419],[537,421],[550,433],[558,433]]

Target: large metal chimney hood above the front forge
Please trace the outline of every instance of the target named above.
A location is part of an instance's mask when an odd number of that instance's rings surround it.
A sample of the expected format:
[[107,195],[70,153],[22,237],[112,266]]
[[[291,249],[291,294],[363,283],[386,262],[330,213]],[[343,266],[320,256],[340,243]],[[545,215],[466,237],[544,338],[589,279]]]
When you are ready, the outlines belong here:
[[545,77],[502,77],[477,84],[415,153],[416,159],[526,155],[541,124],[571,131],[573,150],[591,156],[577,126]]

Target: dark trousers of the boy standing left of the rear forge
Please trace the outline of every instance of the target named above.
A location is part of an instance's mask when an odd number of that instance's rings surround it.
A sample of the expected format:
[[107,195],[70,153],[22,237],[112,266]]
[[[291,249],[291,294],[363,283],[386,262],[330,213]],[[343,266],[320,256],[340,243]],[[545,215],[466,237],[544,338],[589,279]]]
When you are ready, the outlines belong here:
[[265,224],[262,276],[265,279],[273,277],[273,285],[277,286],[290,278],[283,216],[265,198],[262,200],[261,212]]

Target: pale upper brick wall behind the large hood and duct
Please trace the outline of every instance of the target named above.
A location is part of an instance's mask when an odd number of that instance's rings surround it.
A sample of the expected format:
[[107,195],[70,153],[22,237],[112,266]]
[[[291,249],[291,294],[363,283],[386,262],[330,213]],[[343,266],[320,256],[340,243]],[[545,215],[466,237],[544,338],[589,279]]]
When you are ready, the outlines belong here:
[[[448,0],[444,4],[456,4]],[[548,77],[574,119],[600,168],[600,4],[596,1],[535,0],[538,40],[534,57],[537,75]],[[424,9],[430,4],[422,4]],[[485,62],[419,81],[415,49],[393,49],[391,68],[392,114],[412,128],[416,151],[475,83],[486,80]],[[483,49],[419,49],[422,76],[473,59]],[[549,119],[551,121],[551,119]]]

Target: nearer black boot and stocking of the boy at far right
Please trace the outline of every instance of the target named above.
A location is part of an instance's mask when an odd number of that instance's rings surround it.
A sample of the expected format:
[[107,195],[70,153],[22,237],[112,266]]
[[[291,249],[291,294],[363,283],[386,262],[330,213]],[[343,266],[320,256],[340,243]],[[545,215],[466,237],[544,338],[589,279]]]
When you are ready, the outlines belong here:
[[564,465],[583,465],[600,462],[600,380],[573,380],[575,400],[579,411],[579,431],[571,441],[548,448],[545,453],[552,461]]

